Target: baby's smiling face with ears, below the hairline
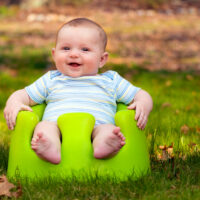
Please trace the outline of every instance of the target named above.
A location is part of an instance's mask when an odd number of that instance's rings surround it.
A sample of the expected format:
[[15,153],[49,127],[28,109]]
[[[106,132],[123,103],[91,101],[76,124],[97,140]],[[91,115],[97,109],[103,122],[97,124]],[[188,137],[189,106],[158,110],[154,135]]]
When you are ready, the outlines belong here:
[[108,56],[101,43],[99,32],[95,28],[64,27],[52,50],[56,68],[73,78],[97,75]]

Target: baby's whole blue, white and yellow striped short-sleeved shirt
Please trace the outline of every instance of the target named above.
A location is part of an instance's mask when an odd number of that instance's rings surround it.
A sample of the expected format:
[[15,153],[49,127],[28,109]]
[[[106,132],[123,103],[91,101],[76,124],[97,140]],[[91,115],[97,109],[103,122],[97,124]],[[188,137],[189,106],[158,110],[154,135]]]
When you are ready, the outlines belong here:
[[57,121],[64,113],[86,112],[98,125],[114,124],[116,102],[129,104],[140,88],[114,71],[72,78],[54,70],[25,89],[36,103],[46,102],[43,120]]

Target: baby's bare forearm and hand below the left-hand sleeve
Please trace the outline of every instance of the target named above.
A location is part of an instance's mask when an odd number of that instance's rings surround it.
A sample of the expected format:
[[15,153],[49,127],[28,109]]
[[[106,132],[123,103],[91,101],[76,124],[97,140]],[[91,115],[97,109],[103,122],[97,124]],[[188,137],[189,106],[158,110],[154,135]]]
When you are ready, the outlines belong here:
[[4,109],[4,117],[9,129],[13,129],[16,123],[16,117],[20,110],[32,111],[29,106],[36,103],[31,100],[25,89],[17,90],[7,100]]

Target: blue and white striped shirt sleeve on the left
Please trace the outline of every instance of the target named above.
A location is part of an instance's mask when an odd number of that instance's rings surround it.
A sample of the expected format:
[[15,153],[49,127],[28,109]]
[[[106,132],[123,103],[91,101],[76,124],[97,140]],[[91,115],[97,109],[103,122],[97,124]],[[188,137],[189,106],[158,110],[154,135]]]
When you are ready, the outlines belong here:
[[48,96],[48,83],[50,81],[50,72],[47,72],[31,85],[25,87],[29,97],[36,103],[43,103]]

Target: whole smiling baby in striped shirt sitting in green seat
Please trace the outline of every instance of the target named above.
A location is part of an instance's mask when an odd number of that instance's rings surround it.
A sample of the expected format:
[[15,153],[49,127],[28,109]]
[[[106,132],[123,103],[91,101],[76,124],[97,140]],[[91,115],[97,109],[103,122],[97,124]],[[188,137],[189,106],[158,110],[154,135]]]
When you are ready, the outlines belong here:
[[[144,129],[152,110],[152,98],[117,72],[98,74],[107,59],[107,36],[97,23],[77,18],[65,23],[52,49],[57,70],[49,71],[25,89],[14,92],[4,109],[9,129],[14,129],[19,111],[46,102],[43,119],[34,130],[31,147],[42,159],[61,161],[60,130],[57,118],[64,113],[91,113],[96,120],[92,132],[94,157],[115,155],[125,145],[125,137],[114,124],[116,102],[135,109],[135,120]],[[134,120],[134,119],[133,119]]]

